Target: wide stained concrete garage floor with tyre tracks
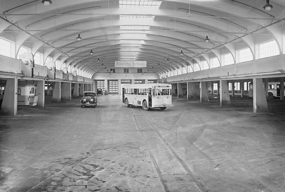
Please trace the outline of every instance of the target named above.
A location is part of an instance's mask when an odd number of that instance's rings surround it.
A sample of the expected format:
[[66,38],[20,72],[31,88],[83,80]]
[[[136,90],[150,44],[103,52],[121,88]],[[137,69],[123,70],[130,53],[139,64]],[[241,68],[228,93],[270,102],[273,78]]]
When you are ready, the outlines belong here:
[[285,191],[285,103],[173,98],[143,111],[121,96],[0,117],[0,191]]

